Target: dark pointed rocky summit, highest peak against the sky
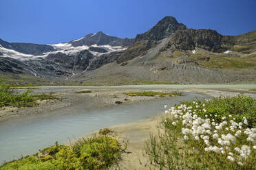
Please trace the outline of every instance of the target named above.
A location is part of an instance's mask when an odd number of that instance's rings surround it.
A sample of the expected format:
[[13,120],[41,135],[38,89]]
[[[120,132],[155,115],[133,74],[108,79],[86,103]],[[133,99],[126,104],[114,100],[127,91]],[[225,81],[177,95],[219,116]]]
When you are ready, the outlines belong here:
[[154,27],[149,29],[149,31],[143,34],[138,34],[136,36],[136,41],[161,40],[167,36],[170,36],[178,29],[186,29],[186,25],[184,25],[183,23],[178,23],[178,21],[173,16],[165,16]]

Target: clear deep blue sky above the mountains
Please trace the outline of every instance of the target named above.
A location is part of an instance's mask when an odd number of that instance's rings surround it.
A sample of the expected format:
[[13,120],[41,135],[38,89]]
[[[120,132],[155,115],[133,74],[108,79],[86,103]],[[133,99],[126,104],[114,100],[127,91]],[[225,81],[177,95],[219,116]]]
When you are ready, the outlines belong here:
[[0,38],[54,44],[98,31],[134,38],[164,16],[237,35],[256,29],[255,9],[255,0],[0,0]]

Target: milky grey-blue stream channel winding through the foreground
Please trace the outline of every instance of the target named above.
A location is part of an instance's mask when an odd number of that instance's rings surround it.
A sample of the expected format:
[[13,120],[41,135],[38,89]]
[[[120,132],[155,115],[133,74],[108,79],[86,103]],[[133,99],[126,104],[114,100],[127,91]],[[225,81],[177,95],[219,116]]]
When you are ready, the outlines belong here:
[[85,110],[83,102],[50,114],[23,116],[0,123],[0,165],[5,160],[34,154],[39,149],[73,140],[103,127],[133,123],[156,117],[164,112],[164,105],[179,101],[208,98],[206,95],[183,93],[184,96],[154,99],[138,103]]

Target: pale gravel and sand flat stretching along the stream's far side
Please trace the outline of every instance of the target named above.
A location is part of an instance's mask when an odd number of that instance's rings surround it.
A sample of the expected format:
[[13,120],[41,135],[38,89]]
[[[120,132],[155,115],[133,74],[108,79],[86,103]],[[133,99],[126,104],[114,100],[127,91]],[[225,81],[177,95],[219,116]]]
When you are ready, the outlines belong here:
[[[175,85],[176,86],[176,85]],[[38,101],[38,104],[33,107],[3,107],[0,108],[0,122],[5,121],[7,119],[11,119],[13,117],[22,117],[36,114],[45,114],[47,112],[52,112],[54,110],[58,110],[61,108],[66,108],[68,106],[73,106],[78,103],[83,102],[85,109],[95,109],[95,108],[103,108],[106,106],[114,106],[116,104],[129,104],[131,102],[136,101],[146,101],[150,99],[158,99],[160,97],[150,97],[150,96],[128,96],[125,93],[137,93],[142,92],[143,90],[153,90],[157,92],[164,93],[173,93],[175,91],[180,92],[192,92],[192,93],[202,93],[205,95],[209,95],[212,97],[217,97],[220,95],[229,95],[235,96],[239,93],[244,93],[250,97],[255,97],[256,92],[251,91],[250,88],[167,88],[168,86],[160,86],[159,88],[153,88],[153,86],[146,86],[142,88],[142,86],[138,86],[138,88],[134,88],[134,86],[124,88],[115,88],[115,87],[98,87],[92,88],[92,93],[80,93],[77,94],[77,91],[87,90],[85,87],[65,87],[65,88],[34,88],[34,94],[53,94],[59,99],[54,100],[43,100]],[[190,86],[188,86],[190,87]],[[201,86],[200,86],[201,87]],[[203,86],[202,86],[203,87]],[[20,88],[19,90],[24,91],[25,88]]]

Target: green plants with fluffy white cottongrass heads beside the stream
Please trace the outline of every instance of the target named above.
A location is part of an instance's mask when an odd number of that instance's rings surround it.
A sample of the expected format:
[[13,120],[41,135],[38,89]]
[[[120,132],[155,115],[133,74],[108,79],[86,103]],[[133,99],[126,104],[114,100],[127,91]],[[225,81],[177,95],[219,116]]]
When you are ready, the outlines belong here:
[[158,169],[256,169],[255,110],[244,95],[182,102],[165,111],[145,152]]

